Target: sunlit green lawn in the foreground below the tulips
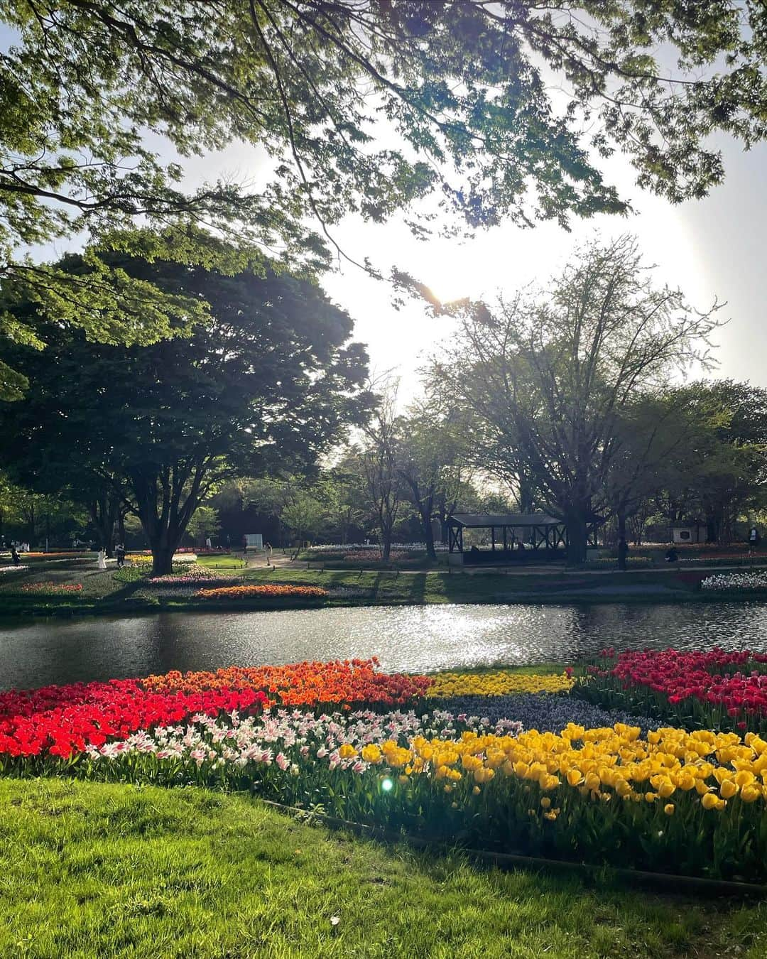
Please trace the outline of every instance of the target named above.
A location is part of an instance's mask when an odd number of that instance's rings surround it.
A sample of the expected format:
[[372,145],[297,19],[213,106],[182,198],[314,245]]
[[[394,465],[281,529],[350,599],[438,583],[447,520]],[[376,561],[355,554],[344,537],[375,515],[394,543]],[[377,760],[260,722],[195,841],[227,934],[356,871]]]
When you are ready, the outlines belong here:
[[485,870],[198,789],[4,780],[0,837],[3,956],[757,959],[767,947],[759,905]]

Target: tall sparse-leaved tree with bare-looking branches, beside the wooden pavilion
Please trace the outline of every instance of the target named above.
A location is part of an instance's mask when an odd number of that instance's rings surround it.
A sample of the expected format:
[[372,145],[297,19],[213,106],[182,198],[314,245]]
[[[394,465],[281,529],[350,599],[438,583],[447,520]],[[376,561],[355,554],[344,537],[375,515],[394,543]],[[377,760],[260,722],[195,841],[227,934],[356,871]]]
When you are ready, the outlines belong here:
[[567,523],[569,561],[582,563],[589,526],[604,520],[597,505],[621,449],[620,417],[680,368],[708,362],[715,310],[699,314],[682,292],[657,288],[632,237],[593,242],[546,292],[519,293],[497,314],[462,308],[432,384],[473,410],[489,462],[533,483]]

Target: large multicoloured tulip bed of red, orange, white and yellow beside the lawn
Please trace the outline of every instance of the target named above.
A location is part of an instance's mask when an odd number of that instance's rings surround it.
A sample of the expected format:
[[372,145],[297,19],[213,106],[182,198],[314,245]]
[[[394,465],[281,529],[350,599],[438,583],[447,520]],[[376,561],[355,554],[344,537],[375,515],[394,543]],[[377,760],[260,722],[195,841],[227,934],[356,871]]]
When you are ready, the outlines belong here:
[[[695,655],[709,680],[710,670],[767,668],[747,653]],[[248,789],[451,843],[767,877],[767,739],[616,721],[574,700],[567,674],[517,676],[519,690],[498,694],[513,675],[443,682],[352,660],[0,693],[0,769]],[[434,688],[482,678],[489,696],[425,706]],[[523,691],[553,681],[562,691]],[[551,713],[558,728],[543,725],[546,709],[564,711]]]

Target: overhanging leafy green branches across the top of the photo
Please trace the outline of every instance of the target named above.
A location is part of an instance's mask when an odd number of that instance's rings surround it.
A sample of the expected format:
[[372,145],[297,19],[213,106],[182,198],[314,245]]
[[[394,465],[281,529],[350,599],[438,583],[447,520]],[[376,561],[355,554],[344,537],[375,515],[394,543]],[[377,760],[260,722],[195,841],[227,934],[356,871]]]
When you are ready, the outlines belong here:
[[[626,153],[642,187],[679,201],[722,178],[709,134],[746,147],[764,138],[763,5],[583,0],[579,9],[2,0],[12,36],[0,60],[3,285],[93,337],[146,342],[187,322],[177,303],[97,261],[76,280],[19,249],[85,231],[103,248],[224,269],[230,252],[189,231],[206,224],[248,257],[266,248],[318,269],[333,224],[350,213],[383,222],[402,211],[424,236],[433,213],[416,215],[413,203],[435,195],[453,227],[564,223],[627,208],[594,157]],[[653,58],[660,47],[676,57],[672,76]],[[271,180],[185,191],[182,164],[151,148],[148,129],[182,160],[233,142],[259,147]],[[162,231],[141,240],[153,249],[136,248],[137,224]],[[123,326],[127,300],[145,309]],[[2,324],[5,336],[44,341],[14,314]],[[6,363],[0,386],[18,396],[25,384]]]

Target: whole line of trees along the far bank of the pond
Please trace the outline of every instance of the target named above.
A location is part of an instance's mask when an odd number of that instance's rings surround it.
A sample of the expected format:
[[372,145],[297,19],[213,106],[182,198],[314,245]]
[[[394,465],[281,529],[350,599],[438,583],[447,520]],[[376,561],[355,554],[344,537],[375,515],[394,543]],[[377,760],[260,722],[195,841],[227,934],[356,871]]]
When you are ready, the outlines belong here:
[[[147,346],[94,343],[35,316],[48,346],[16,344],[30,386],[0,404],[6,474],[80,503],[107,550],[132,518],[156,573],[200,510],[238,488],[295,538],[355,529],[384,561],[404,529],[433,559],[435,527],[445,539],[451,513],[491,502],[562,519],[572,563],[593,535],[637,541],[659,517],[732,538],[764,505],[767,391],[684,380],[712,363],[718,306],[699,312],[656,285],[631,236],[581,247],[540,289],[444,308],[457,332],[407,409],[393,382],[370,382],[351,318],[315,284],[108,257],[204,295],[210,315]],[[58,269],[88,266],[68,257]]]

